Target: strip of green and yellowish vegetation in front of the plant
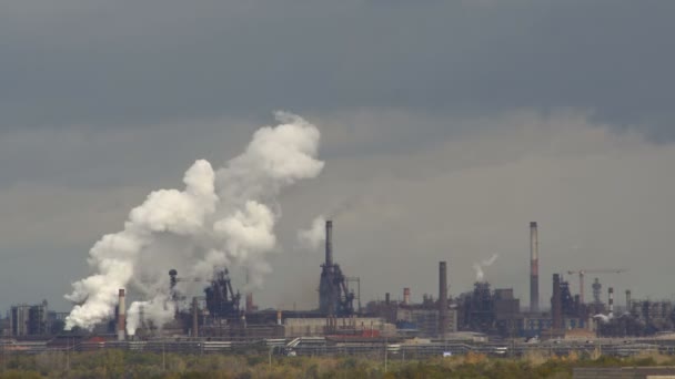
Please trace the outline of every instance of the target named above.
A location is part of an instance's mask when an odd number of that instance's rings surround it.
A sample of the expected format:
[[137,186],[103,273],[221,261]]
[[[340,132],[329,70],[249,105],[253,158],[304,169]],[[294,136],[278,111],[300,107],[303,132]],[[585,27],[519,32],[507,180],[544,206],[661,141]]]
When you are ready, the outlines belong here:
[[[3,357],[4,378],[572,378],[573,367],[675,365],[664,356],[580,359],[528,356],[495,359],[469,354],[426,360],[384,361],[375,358],[272,357],[265,355],[152,354],[122,350],[44,352]],[[386,371],[385,371],[386,370]]]

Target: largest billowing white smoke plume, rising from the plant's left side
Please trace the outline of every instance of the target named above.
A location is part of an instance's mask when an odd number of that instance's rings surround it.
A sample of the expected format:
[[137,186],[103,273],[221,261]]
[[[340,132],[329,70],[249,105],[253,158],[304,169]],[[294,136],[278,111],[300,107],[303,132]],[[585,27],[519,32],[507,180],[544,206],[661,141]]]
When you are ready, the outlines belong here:
[[316,158],[316,126],[290,113],[275,116],[279,125],[258,130],[241,155],[216,171],[197,161],[185,172],[184,190],[152,192],[130,212],[121,232],[91,248],[93,274],[73,283],[66,296],[77,304],[67,329],[91,329],[111,317],[119,288],[134,289],[144,300],[129,308],[131,334],[141,305],[144,317],[161,326],[172,313],[165,306],[171,268],[208,279],[215,267],[241,267],[253,286],[262,284],[271,270],[265,256],[276,246],[279,192],[315,177],[324,165]]

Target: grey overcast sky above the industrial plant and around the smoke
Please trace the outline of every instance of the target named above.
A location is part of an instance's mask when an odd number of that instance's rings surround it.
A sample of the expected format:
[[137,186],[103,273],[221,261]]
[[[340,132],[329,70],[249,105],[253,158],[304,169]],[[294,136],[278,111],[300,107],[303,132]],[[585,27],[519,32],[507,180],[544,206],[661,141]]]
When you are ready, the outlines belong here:
[[[551,275],[672,298],[673,1],[0,2],[0,308],[62,295],[91,245],[201,157],[288,110],[323,174],[284,193],[263,306],[315,305],[294,231],[335,213],[364,299],[451,294],[473,262],[527,304],[528,222]],[[576,290],[576,280],[572,279]],[[395,295],[396,297],[399,295]],[[621,303],[621,301],[619,301]]]

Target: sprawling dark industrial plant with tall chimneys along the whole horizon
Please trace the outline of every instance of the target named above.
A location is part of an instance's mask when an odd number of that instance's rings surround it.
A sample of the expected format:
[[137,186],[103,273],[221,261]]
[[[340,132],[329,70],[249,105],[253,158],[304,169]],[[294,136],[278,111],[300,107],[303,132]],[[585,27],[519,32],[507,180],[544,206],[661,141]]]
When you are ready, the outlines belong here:
[[[377,346],[382,341],[420,346],[464,341],[531,340],[584,340],[602,338],[668,338],[675,328],[675,309],[667,300],[633,299],[625,291],[625,306],[614,305],[614,288],[603,295],[600,277],[593,278],[593,298],[586,301],[583,293],[588,274],[621,274],[625,269],[570,269],[570,278],[578,276],[578,294],[562,274],[551,278],[550,301],[540,304],[538,231],[537,223],[530,224],[530,301],[522,306],[513,288],[493,287],[483,276],[473,283],[469,291],[450,295],[449,263],[430,263],[437,267],[439,291],[424,294],[421,303],[411,300],[412,289],[403,287],[401,300],[392,293],[383,294],[383,300],[367,301],[361,307],[361,280],[347,276],[336,263],[333,249],[333,222],[325,222],[324,259],[318,265],[315,286],[316,307],[308,310],[259,309],[251,291],[243,296],[230,278],[228,267],[214,267],[208,278],[184,277],[179,268],[168,272],[168,294],[164,309],[173,316],[164,324],[155,324],[144,317],[143,306],[138,309],[138,325],[130,329],[125,288],[118,293],[114,317],[100,322],[92,330],[63,331],[67,314],[48,309],[47,301],[38,305],[11,307],[2,321],[2,336],[21,340],[42,340],[62,344],[63,338],[85,341],[97,338],[99,344],[152,344],[170,338],[185,346],[203,344],[252,344],[276,341],[296,351],[318,349],[321,346]],[[319,264],[319,263],[318,263]],[[435,269],[434,269],[435,270]],[[179,283],[192,283],[202,287],[202,295],[188,296],[179,289]],[[68,337],[64,337],[68,336]],[[665,337],[664,337],[665,336]],[[200,342],[201,341],[201,342]],[[225,344],[225,345],[222,345]],[[290,345],[289,345],[290,344]],[[294,345],[293,345],[294,344]],[[304,344],[304,345],[303,345]],[[430,345],[430,346],[431,346]],[[131,346],[131,345],[125,345]],[[309,346],[309,347],[308,347]],[[312,347],[314,346],[314,347]],[[346,349],[346,348],[345,348]],[[356,349],[357,350],[357,349]],[[356,351],[350,350],[350,351]],[[309,351],[309,350],[308,350]],[[345,350],[346,351],[346,350]]]

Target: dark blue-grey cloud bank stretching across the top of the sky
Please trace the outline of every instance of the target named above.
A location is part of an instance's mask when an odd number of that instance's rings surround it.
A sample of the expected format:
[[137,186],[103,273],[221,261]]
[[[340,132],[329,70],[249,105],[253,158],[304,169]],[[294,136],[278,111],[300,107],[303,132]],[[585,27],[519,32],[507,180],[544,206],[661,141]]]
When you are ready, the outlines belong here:
[[675,136],[667,1],[14,1],[3,129],[387,107]]

